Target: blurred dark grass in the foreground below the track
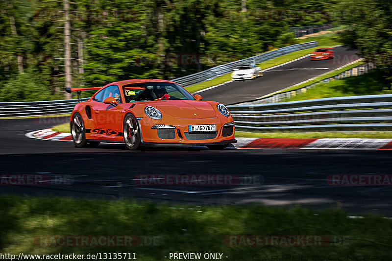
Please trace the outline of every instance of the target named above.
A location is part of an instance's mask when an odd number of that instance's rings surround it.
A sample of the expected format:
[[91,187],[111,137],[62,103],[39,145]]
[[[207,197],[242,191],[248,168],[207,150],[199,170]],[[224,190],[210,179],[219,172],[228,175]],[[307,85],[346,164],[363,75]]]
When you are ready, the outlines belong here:
[[[16,255],[136,253],[138,260],[164,261],[168,260],[164,257],[168,257],[169,253],[188,252],[223,253],[223,260],[245,261],[258,260],[254,258],[260,255],[269,258],[264,260],[272,260],[271,256],[276,255],[357,257],[392,254],[392,220],[374,215],[347,218],[347,213],[342,210],[316,212],[298,206],[283,208],[255,204],[197,207],[132,200],[23,198],[2,195],[0,221],[1,253]],[[137,236],[144,245],[43,245],[50,244],[50,241],[41,241],[41,238],[52,238],[50,236],[54,235]],[[310,239],[308,246],[288,246],[287,241],[285,243],[279,239],[274,243],[274,247],[233,246],[230,242],[233,244],[244,241],[225,241],[229,235],[269,235],[269,238],[279,235],[320,235],[323,236],[323,242],[321,246],[312,246],[309,244],[314,241]],[[146,238],[153,237],[157,239],[155,242],[145,241]],[[332,243],[334,239],[337,242]],[[52,242],[52,245],[54,243],[56,241]],[[302,238],[302,244],[306,243],[306,238]],[[226,256],[228,258],[225,258]]]

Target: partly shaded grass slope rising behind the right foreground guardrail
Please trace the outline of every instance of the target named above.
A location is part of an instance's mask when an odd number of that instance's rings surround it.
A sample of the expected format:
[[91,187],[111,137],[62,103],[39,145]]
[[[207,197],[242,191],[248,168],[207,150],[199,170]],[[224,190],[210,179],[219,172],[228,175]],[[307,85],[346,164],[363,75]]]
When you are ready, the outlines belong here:
[[382,77],[379,71],[375,70],[359,76],[333,80],[329,83],[319,83],[314,88],[308,89],[306,93],[296,94],[283,101],[354,95],[377,95],[383,94],[383,89],[388,89],[389,86],[391,84]]

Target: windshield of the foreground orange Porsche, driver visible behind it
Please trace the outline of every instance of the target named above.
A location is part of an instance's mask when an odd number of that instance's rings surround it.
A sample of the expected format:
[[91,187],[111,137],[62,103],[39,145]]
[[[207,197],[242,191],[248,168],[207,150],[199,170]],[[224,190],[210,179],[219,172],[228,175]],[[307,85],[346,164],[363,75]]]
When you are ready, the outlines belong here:
[[180,85],[171,82],[133,83],[123,86],[125,102],[146,100],[194,100]]

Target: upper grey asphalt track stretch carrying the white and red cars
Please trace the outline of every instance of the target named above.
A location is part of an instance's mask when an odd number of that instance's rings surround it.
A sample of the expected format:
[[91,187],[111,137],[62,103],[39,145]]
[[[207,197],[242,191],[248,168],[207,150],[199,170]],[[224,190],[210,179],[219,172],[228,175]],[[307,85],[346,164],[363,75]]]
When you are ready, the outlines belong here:
[[290,87],[358,59],[355,50],[349,50],[346,47],[335,47],[334,50],[334,59],[311,61],[308,56],[265,71],[263,77],[234,81],[198,94],[202,95],[204,100],[219,101],[226,105],[248,101]]

